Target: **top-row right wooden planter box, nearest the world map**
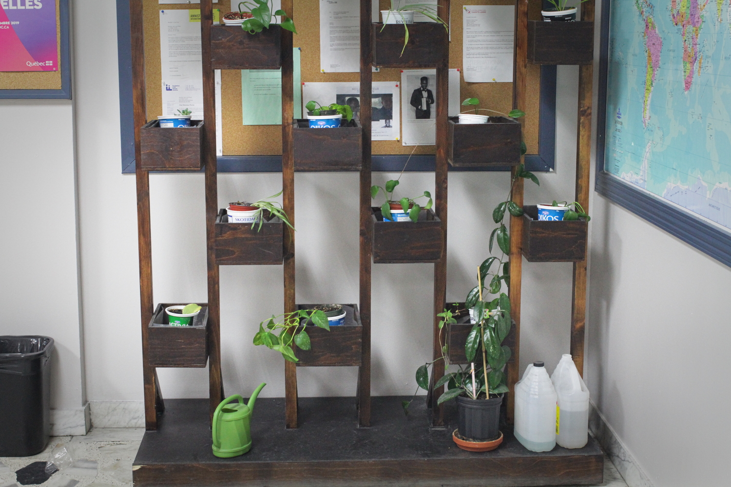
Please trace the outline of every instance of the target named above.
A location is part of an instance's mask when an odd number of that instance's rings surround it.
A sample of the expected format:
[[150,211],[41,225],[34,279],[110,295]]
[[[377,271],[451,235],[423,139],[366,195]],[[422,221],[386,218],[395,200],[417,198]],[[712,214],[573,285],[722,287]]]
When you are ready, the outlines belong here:
[[529,63],[591,64],[593,61],[594,22],[529,21]]

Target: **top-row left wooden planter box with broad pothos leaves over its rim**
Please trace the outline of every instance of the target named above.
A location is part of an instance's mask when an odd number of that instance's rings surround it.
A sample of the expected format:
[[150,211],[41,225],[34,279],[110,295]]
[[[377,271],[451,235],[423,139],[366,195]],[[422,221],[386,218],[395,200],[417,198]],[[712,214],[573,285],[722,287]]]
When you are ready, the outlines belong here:
[[240,26],[211,26],[213,69],[281,68],[281,27],[272,25],[257,34]]

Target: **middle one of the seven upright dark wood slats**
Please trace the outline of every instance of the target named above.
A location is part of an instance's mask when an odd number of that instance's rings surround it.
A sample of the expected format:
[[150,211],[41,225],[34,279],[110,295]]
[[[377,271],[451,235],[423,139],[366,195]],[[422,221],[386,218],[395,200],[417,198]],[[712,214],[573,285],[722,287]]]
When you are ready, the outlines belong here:
[[[371,2],[360,0],[360,93],[371,93],[373,89],[371,23],[373,19]],[[361,364],[358,367],[357,407],[358,425],[371,426],[371,115],[370,103],[360,107],[363,126],[361,131],[362,159],[360,169],[360,231],[359,264],[360,321],[363,324],[361,337]]]

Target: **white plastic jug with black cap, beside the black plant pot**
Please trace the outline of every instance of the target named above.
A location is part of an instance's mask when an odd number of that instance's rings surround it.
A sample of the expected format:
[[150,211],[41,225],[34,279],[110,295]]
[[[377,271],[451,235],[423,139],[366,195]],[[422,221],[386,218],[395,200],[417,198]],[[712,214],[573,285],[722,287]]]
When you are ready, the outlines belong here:
[[543,362],[529,365],[515,384],[515,437],[531,451],[556,446],[556,390]]

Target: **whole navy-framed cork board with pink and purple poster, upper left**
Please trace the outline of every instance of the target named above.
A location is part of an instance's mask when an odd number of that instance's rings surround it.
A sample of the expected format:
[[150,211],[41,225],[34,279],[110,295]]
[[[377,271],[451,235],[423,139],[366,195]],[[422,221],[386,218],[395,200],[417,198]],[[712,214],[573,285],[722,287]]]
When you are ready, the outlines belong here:
[[0,99],[71,99],[69,0],[0,0]]

